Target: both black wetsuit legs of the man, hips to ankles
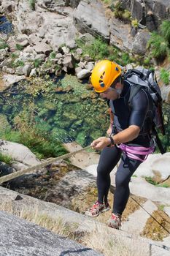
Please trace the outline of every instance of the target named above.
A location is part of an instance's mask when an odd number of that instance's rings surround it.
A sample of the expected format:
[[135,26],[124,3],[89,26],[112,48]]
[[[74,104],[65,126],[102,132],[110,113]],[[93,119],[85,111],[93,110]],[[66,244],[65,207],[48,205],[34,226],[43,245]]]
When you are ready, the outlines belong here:
[[109,173],[117,165],[120,160],[120,165],[117,168],[115,177],[116,189],[114,194],[114,204],[112,212],[115,214],[122,214],[126,203],[128,202],[129,181],[134,171],[139,167],[141,162],[139,160],[130,159],[120,148],[116,146],[106,147],[101,151],[101,156],[97,167],[97,187],[98,187],[98,202],[107,202],[107,195],[110,187],[110,175]]

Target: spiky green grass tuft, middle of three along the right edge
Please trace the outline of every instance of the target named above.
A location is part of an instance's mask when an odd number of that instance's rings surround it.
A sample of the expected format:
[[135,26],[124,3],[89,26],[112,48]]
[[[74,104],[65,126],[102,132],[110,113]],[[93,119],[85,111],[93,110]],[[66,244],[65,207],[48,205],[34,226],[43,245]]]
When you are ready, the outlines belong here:
[[169,45],[161,35],[152,32],[148,42],[148,48],[151,48],[152,57],[163,61],[169,55]]

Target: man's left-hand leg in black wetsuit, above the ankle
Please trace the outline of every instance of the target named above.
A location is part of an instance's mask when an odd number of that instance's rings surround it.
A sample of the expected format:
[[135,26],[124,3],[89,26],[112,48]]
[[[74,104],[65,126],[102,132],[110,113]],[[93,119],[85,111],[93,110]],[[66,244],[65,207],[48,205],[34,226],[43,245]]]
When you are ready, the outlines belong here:
[[116,146],[106,147],[101,151],[97,167],[98,203],[107,203],[107,195],[110,187],[109,173],[120,160],[121,150]]

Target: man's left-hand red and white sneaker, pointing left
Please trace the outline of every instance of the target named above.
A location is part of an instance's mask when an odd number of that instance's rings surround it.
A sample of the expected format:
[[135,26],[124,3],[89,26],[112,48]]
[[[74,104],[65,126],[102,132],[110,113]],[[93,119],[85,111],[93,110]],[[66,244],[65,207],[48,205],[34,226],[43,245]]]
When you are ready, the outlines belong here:
[[85,215],[88,215],[90,217],[97,217],[99,214],[109,211],[110,206],[109,203],[96,203],[93,204],[93,206],[90,208],[90,210],[85,212]]

